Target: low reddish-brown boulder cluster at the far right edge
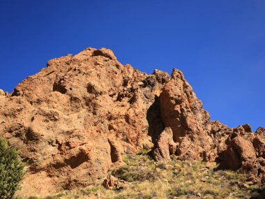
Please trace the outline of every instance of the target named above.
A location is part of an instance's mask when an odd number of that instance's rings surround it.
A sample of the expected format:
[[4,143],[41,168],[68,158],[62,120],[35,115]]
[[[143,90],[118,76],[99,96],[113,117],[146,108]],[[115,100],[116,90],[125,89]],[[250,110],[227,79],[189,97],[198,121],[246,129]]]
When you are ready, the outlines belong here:
[[253,133],[245,124],[233,129],[227,140],[226,148],[218,157],[219,168],[240,170],[251,174],[250,180],[265,183],[265,131],[260,127]]

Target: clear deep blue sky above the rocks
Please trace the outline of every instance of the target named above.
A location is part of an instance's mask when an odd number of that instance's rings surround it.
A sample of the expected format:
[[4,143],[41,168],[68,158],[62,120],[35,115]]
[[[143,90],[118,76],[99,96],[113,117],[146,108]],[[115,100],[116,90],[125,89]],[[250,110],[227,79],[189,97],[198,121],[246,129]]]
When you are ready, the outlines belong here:
[[0,0],[0,88],[107,47],[146,73],[183,71],[211,119],[265,126],[265,1]]

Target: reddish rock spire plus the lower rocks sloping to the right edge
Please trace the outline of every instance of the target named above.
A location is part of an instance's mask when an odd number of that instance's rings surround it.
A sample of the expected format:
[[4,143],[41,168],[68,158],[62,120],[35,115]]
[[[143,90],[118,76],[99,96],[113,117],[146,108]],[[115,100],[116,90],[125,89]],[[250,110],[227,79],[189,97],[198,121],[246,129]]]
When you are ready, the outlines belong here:
[[172,129],[172,136],[163,131],[158,137],[153,149],[156,160],[169,159],[168,140],[173,137],[179,145],[175,153],[179,159],[216,161],[219,168],[251,173],[252,181],[264,184],[264,128],[253,133],[249,124],[227,128],[219,121],[209,121],[209,113],[177,69],[163,87],[159,101],[162,122],[165,129]]

